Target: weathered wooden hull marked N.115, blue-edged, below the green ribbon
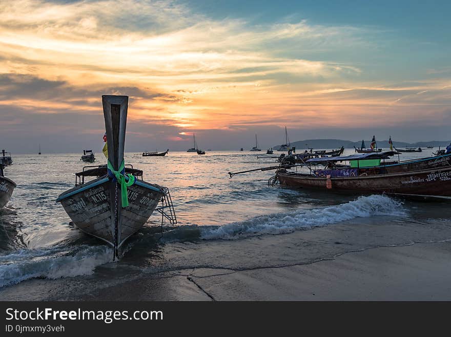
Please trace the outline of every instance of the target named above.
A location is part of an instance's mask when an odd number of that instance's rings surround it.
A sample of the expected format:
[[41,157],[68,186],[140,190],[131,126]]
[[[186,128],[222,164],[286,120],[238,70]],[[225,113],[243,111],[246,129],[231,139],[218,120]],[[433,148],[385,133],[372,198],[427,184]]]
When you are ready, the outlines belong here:
[[120,186],[105,175],[62,193],[57,201],[80,230],[119,248],[147,222],[162,195],[159,186],[136,180],[128,187],[129,206],[122,208]]

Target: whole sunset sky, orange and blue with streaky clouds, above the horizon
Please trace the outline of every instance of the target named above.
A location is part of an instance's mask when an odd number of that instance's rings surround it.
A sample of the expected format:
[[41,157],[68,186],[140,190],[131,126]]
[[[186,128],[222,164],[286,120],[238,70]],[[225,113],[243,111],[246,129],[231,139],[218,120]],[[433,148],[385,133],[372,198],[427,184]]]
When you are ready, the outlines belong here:
[[0,147],[100,152],[450,140],[448,1],[0,0]]

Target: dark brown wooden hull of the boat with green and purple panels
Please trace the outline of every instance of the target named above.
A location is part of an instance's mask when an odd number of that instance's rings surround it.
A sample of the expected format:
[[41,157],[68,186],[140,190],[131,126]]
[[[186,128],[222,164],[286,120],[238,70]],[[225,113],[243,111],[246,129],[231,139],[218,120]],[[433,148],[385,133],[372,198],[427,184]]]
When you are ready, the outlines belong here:
[[451,196],[451,167],[329,179],[286,171],[278,172],[277,176],[281,185],[323,189],[331,192]]

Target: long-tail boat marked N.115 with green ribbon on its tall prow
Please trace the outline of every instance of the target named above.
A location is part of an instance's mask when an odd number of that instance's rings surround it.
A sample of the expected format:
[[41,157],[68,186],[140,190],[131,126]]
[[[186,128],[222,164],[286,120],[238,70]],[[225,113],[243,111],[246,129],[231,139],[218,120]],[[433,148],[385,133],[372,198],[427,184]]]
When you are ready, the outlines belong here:
[[[76,186],[61,193],[57,201],[79,229],[110,244],[114,258],[160,201],[169,207],[171,215],[173,207],[167,188],[142,181],[142,171],[125,167],[128,96],[104,95],[102,103],[108,139],[107,167],[77,173]],[[85,183],[85,176],[97,178]],[[159,211],[170,219],[163,210]]]

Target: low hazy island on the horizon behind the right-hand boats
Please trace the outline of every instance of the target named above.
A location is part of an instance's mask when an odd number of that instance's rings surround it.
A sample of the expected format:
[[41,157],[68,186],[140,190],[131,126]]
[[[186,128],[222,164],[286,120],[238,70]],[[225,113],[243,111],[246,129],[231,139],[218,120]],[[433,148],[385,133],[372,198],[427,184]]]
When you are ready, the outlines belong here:
[[[406,142],[393,142],[393,146],[397,148],[406,148],[406,147],[422,147],[425,148],[427,146],[433,147],[446,147],[449,145],[451,141],[428,141],[428,142],[416,142],[416,143],[406,143]],[[304,141],[296,141],[292,142],[291,146],[296,147],[296,149],[339,149],[344,146],[345,149],[352,149],[355,147],[360,147],[362,141],[352,142],[352,141],[343,141],[340,139],[307,139]],[[365,140],[365,145],[367,148],[370,147],[371,140]],[[388,144],[388,140],[386,141],[377,141],[377,147],[382,149],[388,149],[390,145]],[[275,150],[280,148],[280,145],[273,146]]]

